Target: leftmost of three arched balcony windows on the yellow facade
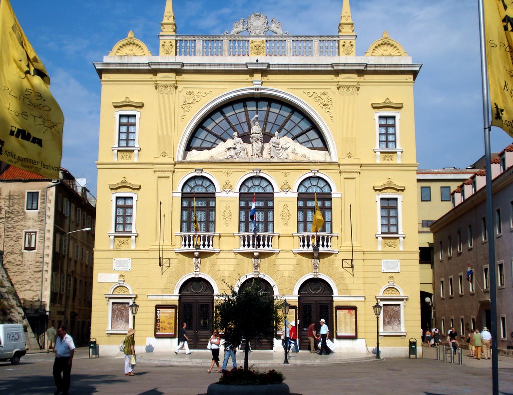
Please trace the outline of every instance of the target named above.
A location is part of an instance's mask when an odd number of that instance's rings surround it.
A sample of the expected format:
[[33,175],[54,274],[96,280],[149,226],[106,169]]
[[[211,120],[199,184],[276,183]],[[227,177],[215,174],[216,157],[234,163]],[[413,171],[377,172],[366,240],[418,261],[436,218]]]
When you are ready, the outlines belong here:
[[194,196],[200,232],[215,232],[215,186],[206,177],[189,178],[182,189],[181,232],[194,232]]

